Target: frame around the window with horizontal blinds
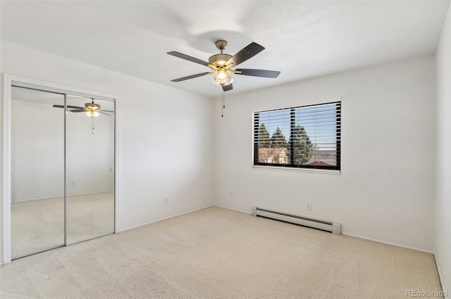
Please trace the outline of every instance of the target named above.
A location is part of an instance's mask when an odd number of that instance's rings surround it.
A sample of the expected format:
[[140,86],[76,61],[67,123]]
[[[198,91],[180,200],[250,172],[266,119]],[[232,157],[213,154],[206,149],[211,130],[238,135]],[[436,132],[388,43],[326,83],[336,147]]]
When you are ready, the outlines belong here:
[[[290,153],[290,163],[288,164],[282,164],[282,163],[263,163],[259,162],[259,113],[265,113],[265,112],[271,112],[271,111],[277,111],[277,110],[290,110],[290,136],[292,136],[295,128],[295,110],[297,108],[304,108],[304,107],[312,107],[312,106],[321,106],[326,104],[338,104],[338,114],[335,118],[335,125],[336,125],[336,133],[335,133],[335,141],[336,141],[336,156],[335,156],[335,163],[336,165],[298,165],[294,163],[295,155],[293,155],[293,146],[288,146],[287,150]],[[340,97],[336,98],[328,98],[323,101],[315,101],[312,103],[302,103],[302,104],[295,104],[290,105],[288,107],[282,107],[280,106],[278,108],[260,108],[255,109],[252,113],[252,167],[264,167],[268,169],[281,169],[281,170],[326,170],[326,171],[333,171],[333,172],[341,172],[341,110],[342,110],[342,101]],[[258,115],[256,117],[256,115]],[[258,124],[258,125],[256,125]],[[288,143],[290,144],[290,138],[288,139]]]

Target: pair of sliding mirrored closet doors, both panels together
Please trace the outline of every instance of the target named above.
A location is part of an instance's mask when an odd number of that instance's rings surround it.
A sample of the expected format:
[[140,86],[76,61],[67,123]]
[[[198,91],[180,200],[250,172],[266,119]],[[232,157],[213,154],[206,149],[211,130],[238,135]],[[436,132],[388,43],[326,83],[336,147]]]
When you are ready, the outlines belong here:
[[11,258],[114,232],[114,101],[11,88]]

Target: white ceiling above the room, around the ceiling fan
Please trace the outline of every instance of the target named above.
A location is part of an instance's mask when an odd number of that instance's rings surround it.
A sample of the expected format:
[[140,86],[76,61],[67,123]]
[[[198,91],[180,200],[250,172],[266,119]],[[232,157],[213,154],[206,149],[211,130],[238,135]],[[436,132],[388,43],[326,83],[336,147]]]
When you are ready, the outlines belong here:
[[240,68],[228,94],[435,53],[450,1],[1,1],[1,40],[205,96],[221,96],[197,63],[266,49]]

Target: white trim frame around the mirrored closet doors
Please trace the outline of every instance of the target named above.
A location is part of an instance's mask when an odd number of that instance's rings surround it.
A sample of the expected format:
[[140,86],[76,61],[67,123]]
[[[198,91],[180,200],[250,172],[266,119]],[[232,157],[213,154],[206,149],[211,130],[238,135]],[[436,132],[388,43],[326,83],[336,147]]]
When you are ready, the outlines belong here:
[[[0,265],[11,262],[11,87],[26,87],[42,91],[56,92],[58,94],[72,94],[87,98],[98,98],[99,100],[113,101],[115,103],[114,115],[114,232],[118,231],[118,96],[104,94],[98,91],[79,89],[61,84],[19,77],[16,75],[3,75],[3,140],[1,145],[2,160],[1,167],[1,255]],[[65,236],[66,238],[66,236]]]

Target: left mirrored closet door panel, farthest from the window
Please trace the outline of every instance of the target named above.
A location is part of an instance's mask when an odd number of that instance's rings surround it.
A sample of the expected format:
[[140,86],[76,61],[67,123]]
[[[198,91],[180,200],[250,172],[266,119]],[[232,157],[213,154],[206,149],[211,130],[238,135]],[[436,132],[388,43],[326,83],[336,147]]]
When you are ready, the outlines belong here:
[[64,246],[64,95],[11,89],[11,257]]

